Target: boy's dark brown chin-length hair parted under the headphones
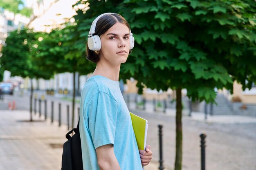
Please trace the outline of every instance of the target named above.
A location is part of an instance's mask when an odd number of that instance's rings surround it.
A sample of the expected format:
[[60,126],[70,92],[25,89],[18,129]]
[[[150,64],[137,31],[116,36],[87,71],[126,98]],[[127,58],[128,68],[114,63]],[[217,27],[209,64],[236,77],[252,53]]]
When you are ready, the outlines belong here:
[[[95,33],[93,35],[99,35],[101,36],[103,33],[106,33],[108,29],[110,29],[115,23],[120,22],[122,24],[125,24],[129,29],[130,25],[118,13],[110,13],[103,15],[99,20],[97,21]],[[88,44],[86,44],[86,53],[87,53],[87,59],[92,62],[98,62],[99,61],[99,51],[92,51],[89,49]],[[131,53],[131,50],[129,51],[129,54]]]

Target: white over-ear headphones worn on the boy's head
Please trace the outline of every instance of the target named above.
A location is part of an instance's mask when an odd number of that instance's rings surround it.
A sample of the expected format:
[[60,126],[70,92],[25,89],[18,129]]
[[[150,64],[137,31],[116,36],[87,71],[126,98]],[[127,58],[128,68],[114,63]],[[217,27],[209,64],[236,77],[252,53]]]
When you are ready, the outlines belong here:
[[[92,26],[91,29],[89,31],[89,38],[88,38],[88,47],[90,50],[92,51],[99,51],[101,49],[101,38],[99,37],[99,35],[92,35],[95,33],[95,28],[96,28],[96,24],[97,21],[99,20],[99,18],[101,18],[103,15],[106,14],[111,14],[111,13],[103,13],[101,15],[99,15],[93,22],[92,22]],[[134,37],[132,36],[132,32],[130,30],[130,50],[134,47]]]

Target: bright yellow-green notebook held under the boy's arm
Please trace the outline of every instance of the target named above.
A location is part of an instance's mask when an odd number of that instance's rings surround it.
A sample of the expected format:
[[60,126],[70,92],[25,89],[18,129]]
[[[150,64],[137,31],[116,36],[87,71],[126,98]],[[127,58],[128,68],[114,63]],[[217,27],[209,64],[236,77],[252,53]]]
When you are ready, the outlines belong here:
[[135,133],[138,148],[139,150],[145,150],[148,132],[148,121],[133,113],[130,113],[130,116],[132,119],[132,127]]

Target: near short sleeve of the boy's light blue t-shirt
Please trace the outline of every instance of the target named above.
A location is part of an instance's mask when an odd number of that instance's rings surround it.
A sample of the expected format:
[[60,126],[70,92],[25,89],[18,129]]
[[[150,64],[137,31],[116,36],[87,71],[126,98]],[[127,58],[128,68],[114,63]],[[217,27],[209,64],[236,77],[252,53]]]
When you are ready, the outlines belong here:
[[104,92],[97,93],[88,102],[88,128],[95,149],[106,144],[114,145],[117,106],[117,101]]

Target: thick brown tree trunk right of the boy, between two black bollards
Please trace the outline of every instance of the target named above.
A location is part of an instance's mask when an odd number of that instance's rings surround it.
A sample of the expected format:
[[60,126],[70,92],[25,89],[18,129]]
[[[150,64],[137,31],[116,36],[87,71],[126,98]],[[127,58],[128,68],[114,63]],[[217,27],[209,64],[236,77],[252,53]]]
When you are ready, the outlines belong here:
[[174,170],[182,169],[182,99],[181,88],[176,90],[176,157]]

